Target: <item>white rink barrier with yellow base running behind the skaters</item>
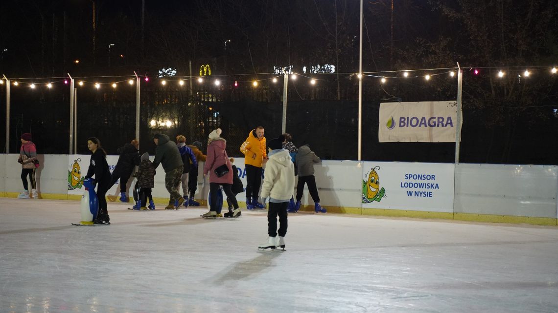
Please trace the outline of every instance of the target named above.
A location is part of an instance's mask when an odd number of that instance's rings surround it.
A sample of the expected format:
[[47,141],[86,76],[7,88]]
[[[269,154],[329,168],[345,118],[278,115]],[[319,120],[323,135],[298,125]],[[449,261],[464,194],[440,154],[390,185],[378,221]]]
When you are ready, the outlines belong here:
[[[2,197],[17,197],[22,190],[21,165],[17,158],[18,154],[0,155],[0,164],[4,165],[0,167]],[[87,172],[89,159],[90,155],[39,155],[41,166],[36,180],[40,197],[80,199],[83,188],[79,180]],[[116,155],[107,157],[111,171],[117,160]],[[235,158],[234,164],[246,187],[244,158]],[[320,203],[328,212],[557,224],[558,167],[555,165],[324,160],[314,168]],[[130,198],[134,181],[132,177],[127,183]],[[208,191],[209,183],[204,180],[203,163],[200,163],[196,200],[205,203]],[[119,196],[119,193],[117,182],[107,195]],[[157,168],[152,194],[157,203],[168,202],[161,165]],[[237,200],[242,206],[246,196],[238,194]],[[314,201],[307,187],[302,203],[303,210],[313,211]]]

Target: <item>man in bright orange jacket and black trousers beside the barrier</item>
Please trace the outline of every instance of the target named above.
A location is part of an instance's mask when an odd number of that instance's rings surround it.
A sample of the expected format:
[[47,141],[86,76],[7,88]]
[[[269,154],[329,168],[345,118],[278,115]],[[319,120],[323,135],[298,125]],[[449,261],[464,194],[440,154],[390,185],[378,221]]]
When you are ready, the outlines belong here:
[[246,208],[249,210],[254,207],[264,208],[262,204],[258,203],[263,160],[267,160],[266,138],[263,133],[263,127],[258,126],[248,134],[248,138],[240,146],[240,152],[244,154],[244,165],[246,165]]

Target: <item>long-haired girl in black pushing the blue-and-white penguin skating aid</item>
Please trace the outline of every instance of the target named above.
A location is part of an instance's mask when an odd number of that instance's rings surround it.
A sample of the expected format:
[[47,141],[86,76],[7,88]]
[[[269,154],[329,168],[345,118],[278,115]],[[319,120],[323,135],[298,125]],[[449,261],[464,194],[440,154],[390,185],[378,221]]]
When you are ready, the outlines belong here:
[[85,175],[85,179],[92,178],[95,175],[95,183],[97,183],[97,198],[99,199],[99,213],[94,224],[110,224],[110,218],[107,210],[107,199],[105,194],[109,189],[111,176],[107,163],[107,151],[101,148],[99,139],[90,137],[87,139],[87,148],[91,151],[91,160],[89,161],[89,169]]

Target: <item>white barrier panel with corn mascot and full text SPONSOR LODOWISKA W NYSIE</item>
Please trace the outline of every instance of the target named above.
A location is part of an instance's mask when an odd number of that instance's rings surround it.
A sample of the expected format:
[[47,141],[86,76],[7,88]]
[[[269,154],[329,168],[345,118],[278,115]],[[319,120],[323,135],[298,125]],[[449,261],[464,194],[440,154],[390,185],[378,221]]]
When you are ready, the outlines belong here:
[[453,212],[454,164],[364,162],[362,208]]

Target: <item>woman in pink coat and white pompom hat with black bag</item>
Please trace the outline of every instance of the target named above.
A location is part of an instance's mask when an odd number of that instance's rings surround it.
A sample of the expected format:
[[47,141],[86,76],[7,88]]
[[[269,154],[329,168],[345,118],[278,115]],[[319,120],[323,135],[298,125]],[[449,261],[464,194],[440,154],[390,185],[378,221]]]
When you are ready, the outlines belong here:
[[[231,188],[233,185],[233,173],[232,165],[230,164],[229,156],[227,155],[227,140],[220,138],[221,129],[215,129],[214,131],[209,134],[208,140],[208,152],[207,152],[207,160],[205,161],[204,165],[204,175],[209,173],[209,194],[210,194],[210,202],[211,206],[209,208],[209,212],[203,214],[203,217],[217,217],[217,211],[220,211],[217,207],[217,192],[219,190],[219,185],[223,186],[223,190],[229,200],[233,204],[233,210],[230,210],[228,213],[225,213],[225,217],[238,217],[240,216],[240,209],[238,208],[237,198],[235,197],[234,193],[232,192]],[[222,165],[226,165],[229,172],[222,175],[221,177],[217,176],[215,169],[219,168]]]

